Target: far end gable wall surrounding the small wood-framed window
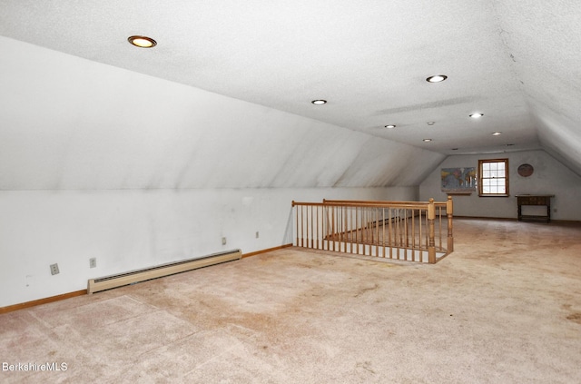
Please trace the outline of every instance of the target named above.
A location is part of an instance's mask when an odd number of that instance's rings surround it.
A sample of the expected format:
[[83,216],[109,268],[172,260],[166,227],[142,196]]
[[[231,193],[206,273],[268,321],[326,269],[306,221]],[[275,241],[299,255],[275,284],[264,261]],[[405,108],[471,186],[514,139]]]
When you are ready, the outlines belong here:
[[[441,168],[478,168],[479,159],[500,158],[508,159],[510,197],[478,197],[478,192],[469,196],[453,196],[455,215],[517,219],[517,198],[515,195],[539,193],[555,194],[555,198],[551,202],[552,219],[581,220],[581,204],[579,204],[581,177],[545,151],[449,156],[420,184],[419,197],[421,200],[433,197],[437,201],[443,201],[447,198],[447,194],[441,192]],[[531,164],[535,168],[535,172],[531,176],[518,175],[517,168],[523,163]],[[535,212],[527,213],[534,214]]]

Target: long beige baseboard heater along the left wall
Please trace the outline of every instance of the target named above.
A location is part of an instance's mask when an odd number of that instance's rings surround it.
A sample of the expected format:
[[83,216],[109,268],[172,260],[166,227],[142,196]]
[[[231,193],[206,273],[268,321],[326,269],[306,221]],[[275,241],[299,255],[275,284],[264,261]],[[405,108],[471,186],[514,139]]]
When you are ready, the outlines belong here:
[[123,285],[133,284],[140,281],[169,276],[175,273],[192,271],[198,268],[209,267],[222,262],[240,260],[242,258],[241,250],[212,253],[211,255],[190,259],[185,261],[170,262],[143,270],[119,273],[116,275],[105,276],[99,279],[89,279],[87,283],[87,293],[92,294],[101,290],[111,290]]

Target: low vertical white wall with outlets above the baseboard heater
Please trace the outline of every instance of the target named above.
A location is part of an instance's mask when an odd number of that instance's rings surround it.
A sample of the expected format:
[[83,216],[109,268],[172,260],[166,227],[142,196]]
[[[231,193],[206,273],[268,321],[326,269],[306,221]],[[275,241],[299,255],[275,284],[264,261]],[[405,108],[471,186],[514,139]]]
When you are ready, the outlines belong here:
[[291,243],[292,200],[323,198],[417,200],[418,188],[0,192],[0,307],[113,273]]

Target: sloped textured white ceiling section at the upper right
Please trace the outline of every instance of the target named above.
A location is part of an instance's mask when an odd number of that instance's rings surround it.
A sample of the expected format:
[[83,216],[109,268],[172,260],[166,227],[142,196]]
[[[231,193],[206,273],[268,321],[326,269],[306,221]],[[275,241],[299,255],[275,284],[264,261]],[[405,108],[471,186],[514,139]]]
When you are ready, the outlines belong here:
[[541,145],[581,175],[581,3],[495,1],[494,6]]

